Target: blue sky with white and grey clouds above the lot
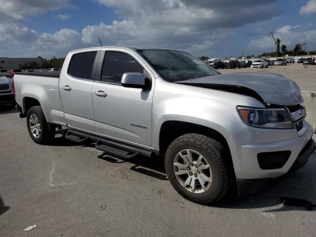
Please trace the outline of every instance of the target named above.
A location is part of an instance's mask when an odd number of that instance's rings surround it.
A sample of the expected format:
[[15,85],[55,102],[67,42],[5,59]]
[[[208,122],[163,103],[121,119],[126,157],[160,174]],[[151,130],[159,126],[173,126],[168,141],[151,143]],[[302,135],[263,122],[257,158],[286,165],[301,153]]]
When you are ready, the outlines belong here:
[[156,46],[194,56],[316,50],[316,0],[0,0],[0,57],[65,57],[100,46]]

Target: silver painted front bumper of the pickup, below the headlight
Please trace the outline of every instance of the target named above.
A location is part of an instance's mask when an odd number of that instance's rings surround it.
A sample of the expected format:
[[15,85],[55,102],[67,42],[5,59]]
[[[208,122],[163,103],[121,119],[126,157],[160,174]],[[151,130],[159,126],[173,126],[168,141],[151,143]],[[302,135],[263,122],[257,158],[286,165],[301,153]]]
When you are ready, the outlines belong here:
[[[300,152],[311,140],[314,128],[303,119],[303,127],[296,129],[264,129],[246,127],[227,138],[237,179],[276,178],[289,171]],[[258,154],[290,151],[280,168],[262,169]]]

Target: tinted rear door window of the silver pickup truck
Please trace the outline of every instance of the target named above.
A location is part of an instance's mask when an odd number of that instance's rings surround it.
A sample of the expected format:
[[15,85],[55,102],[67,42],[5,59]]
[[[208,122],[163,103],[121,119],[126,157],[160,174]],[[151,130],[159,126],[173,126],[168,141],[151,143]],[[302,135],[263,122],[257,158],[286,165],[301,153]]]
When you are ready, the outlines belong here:
[[97,52],[74,54],[68,67],[68,74],[75,78],[90,80],[96,54]]

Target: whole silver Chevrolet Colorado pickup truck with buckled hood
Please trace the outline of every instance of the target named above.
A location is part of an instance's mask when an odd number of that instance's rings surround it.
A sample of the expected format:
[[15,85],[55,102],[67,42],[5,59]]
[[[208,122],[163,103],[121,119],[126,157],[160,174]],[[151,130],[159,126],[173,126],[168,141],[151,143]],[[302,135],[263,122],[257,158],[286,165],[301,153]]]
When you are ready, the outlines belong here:
[[66,126],[67,139],[118,158],[163,156],[174,189],[198,203],[256,192],[315,150],[294,81],[221,75],[179,50],[74,50],[60,72],[18,73],[14,85],[36,143]]

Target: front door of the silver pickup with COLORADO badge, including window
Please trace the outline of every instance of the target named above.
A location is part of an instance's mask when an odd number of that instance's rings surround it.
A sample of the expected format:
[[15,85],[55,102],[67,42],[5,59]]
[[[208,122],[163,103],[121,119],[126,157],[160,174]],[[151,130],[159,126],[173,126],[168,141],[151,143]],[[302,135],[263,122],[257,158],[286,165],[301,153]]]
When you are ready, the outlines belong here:
[[[104,55],[104,56],[103,56]],[[138,54],[127,49],[101,51],[92,85],[95,132],[132,145],[151,146],[154,74]],[[120,83],[124,73],[145,73],[150,90],[127,88]]]

